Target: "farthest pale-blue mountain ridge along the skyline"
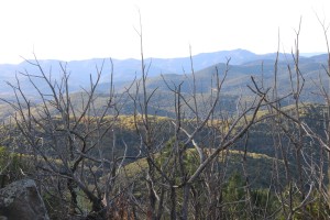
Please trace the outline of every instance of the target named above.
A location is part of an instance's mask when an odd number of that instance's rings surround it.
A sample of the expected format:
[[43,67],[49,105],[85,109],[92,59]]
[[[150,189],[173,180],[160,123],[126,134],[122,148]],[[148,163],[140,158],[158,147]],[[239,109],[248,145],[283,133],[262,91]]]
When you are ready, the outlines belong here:
[[[177,57],[177,58],[146,58],[145,66],[148,77],[158,77],[160,75],[185,75],[191,73],[191,61],[194,72],[204,72],[208,68],[215,68],[215,66],[221,63],[228,63],[231,66],[239,66],[245,69],[261,69],[262,64],[270,64],[274,66],[274,61],[277,57],[277,53],[268,54],[255,54],[253,52],[238,48],[232,51],[219,51],[212,53],[200,53],[191,57]],[[278,62],[287,62],[292,59],[292,54],[278,53]],[[316,55],[311,57],[301,56],[300,63],[323,63],[327,61],[327,54]],[[40,69],[32,65],[36,61],[24,61],[20,64],[2,64],[0,65],[0,94],[8,94],[8,85],[15,82],[15,77],[21,81],[22,87],[31,91],[33,88],[26,87],[28,78],[19,73],[29,73],[31,75],[40,75]],[[132,81],[135,77],[141,76],[141,61],[135,58],[128,59],[110,59],[110,58],[92,58],[84,61],[62,62],[57,59],[40,59],[37,61],[44,73],[47,76],[52,76],[53,80],[59,80],[63,74],[63,69],[70,75],[69,84],[70,91],[77,91],[82,88],[88,88],[90,76],[96,76],[97,72],[102,69],[103,74],[100,82],[106,84],[110,81],[110,75],[113,65],[113,81],[120,84],[124,81]],[[62,66],[61,66],[62,65]],[[245,70],[243,70],[245,72]],[[246,73],[245,73],[246,74]],[[40,88],[43,88],[43,84],[37,84]]]

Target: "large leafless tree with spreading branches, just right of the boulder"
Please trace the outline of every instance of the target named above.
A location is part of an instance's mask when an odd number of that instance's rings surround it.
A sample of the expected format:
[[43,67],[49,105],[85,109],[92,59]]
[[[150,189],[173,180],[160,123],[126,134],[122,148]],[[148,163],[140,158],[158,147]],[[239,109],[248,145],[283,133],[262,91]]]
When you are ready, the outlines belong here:
[[[116,198],[113,186],[125,158],[125,155],[120,158],[113,154],[116,142],[110,146],[103,145],[105,136],[116,136],[113,128],[119,114],[113,73],[108,101],[100,110],[95,107],[96,88],[105,62],[100,68],[96,67],[96,78],[90,76],[90,87],[84,89],[80,99],[75,102],[69,94],[69,74],[65,64],[59,64],[62,78],[58,80],[52,78],[51,72],[45,73],[36,58],[26,62],[35,66],[38,74],[20,74],[29,79],[37,99],[29,99],[16,77],[15,85],[9,82],[15,100],[4,101],[14,110],[14,129],[21,132],[24,145],[21,151],[33,158],[36,168],[34,178],[43,190],[68,205],[69,215],[89,213],[103,219],[112,206],[111,199]],[[40,89],[36,81],[46,85],[46,90]],[[112,155],[103,153],[106,147],[109,147],[107,152],[112,151]],[[91,202],[90,209],[81,207],[78,201],[81,198]]]

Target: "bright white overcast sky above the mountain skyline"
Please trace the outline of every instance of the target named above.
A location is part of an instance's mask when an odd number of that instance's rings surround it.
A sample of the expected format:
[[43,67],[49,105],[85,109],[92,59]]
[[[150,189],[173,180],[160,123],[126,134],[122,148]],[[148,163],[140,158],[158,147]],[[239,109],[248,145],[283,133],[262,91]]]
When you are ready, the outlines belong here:
[[[244,48],[326,52],[329,0],[0,0],[0,64],[183,57]],[[328,14],[328,15],[327,15]],[[329,35],[329,34],[328,34]],[[330,36],[329,36],[330,37]]]

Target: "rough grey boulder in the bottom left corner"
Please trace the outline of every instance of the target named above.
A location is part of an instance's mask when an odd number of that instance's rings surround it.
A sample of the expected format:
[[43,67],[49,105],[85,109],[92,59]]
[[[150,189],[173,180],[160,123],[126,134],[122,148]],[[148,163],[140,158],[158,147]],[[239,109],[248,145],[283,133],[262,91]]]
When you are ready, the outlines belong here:
[[35,182],[22,179],[0,189],[0,219],[48,220]]

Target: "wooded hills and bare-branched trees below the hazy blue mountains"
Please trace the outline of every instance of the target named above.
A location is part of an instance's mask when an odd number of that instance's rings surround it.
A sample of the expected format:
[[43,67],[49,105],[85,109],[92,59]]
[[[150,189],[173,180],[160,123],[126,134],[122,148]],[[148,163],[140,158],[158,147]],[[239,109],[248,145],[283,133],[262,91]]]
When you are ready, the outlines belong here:
[[58,220],[329,219],[330,53],[310,79],[298,40],[241,89],[230,58],[202,84],[193,58],[185,77],[151,79],[142,45],[141,77],[119,91],[113,69],[70,92],[64,64],[58,80],[29,61],[29,87],[1,98],[1,188],[34,179]]

